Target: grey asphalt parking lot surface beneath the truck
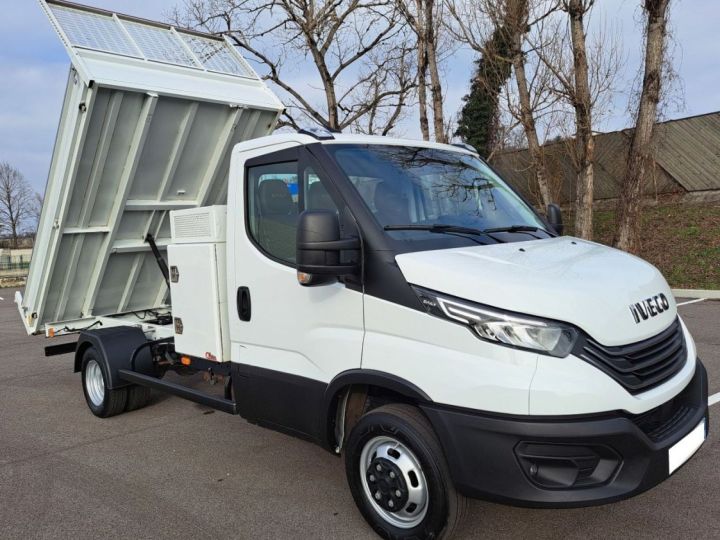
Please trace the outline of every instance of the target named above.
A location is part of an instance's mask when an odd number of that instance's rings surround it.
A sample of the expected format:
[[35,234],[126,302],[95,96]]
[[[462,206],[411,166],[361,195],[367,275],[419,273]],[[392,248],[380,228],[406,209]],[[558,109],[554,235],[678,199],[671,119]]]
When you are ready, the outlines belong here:
[[[317,446],[162,395],[94,417],[72,356],[43,356],[13,293],[0,290],[0,538],[374,537],[342,461]],[[679,311],[716,394],[720,302]],[[459,537],[718,538],[718,410],[695,458],[645,494],[575,510],[473,501]]]

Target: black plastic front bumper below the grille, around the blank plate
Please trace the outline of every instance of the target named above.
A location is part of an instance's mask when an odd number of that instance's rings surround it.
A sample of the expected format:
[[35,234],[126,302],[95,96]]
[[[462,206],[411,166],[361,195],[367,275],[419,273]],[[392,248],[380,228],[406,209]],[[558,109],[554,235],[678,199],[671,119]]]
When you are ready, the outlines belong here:
[[641,415],[482,414],[427,405],[456,488],[519,506],[573,507],[631,497],[665,480],[668,449],[703,418],[707,373],[697,361],[685,389]]

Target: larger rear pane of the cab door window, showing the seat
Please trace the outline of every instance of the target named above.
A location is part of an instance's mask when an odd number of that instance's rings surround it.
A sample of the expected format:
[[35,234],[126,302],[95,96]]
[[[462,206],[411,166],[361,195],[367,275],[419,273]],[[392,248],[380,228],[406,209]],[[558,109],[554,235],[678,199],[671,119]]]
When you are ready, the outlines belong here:
[[250,234],[268,254],[288,263],[295,262],[298,180],[297,161],[248,168]]

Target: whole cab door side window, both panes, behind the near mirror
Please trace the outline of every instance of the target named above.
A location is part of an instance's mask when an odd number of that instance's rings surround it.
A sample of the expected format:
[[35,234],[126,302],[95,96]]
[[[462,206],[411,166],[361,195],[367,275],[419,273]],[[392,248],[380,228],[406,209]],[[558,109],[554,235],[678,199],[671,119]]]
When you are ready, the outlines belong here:
[[253,240],[269,255],[294,264],[298,216],[338,211],[325,181],[297,161],[249,167],[246,211]]

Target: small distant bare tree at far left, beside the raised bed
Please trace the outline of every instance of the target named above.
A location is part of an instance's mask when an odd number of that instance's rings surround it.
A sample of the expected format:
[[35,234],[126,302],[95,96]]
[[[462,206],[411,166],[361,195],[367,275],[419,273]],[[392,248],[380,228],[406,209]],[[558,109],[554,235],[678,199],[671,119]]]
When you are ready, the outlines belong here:
[[9,232],[14,248],[18,247],[32,204],[33,191],[22,173],[7,162],[0,163],[0,229]]

